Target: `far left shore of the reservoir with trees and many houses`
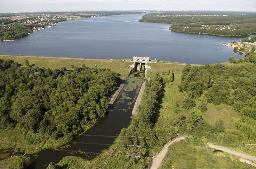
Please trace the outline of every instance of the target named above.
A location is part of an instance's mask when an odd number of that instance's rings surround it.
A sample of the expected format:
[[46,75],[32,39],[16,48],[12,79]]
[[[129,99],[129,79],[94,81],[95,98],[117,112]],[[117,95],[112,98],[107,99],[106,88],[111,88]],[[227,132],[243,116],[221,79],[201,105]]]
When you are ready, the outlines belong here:
[[[1,17],[6,24],[0,27],[0,40],[12,40],[25,37],[35,31],[57,25],[59,22],[96,18],[108,15],[141,14],[142,11],[80,11],[80,12],[25,12],[14,13],[10,17]],[[0,13],[1,14],[1,13]],[[3,15],[3,14],[2,14]],[[9,14],[10,15],[10,14]],[[12,16],[13,15],[13,16]],[[8,28],[8,29],[7,29]],[[6,31],[7,30],[7,31]]]

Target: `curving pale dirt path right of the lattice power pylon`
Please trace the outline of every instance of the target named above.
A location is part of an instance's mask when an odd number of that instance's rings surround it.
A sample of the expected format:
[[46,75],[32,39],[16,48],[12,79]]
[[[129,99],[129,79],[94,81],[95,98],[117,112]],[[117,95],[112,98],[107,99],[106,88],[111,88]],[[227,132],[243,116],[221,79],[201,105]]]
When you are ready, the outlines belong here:
[[185,137],[176,137],[169,141],[167,144],[165,144],[162,150],[159,152],[159,154],[155,158],[153,158],[153,162],[150,168],[159,168],[162,163],[162,160],[164,159],[165,154],[168,151],[169,146],[172,145],[173,143],[183,140],[184,138]]

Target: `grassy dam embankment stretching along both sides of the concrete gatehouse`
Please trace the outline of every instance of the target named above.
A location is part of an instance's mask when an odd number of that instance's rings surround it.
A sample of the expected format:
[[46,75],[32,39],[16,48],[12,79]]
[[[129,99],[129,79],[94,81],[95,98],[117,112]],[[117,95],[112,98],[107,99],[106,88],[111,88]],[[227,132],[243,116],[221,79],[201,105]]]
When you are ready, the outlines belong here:
[[[30,65],[60,69],[61,67],[66,67],[71,69],[71,65],[76,67],[85,64],[87,67],[98,68],[108,68],[112,71],[121,74],[120,77],[127,76],[131,68],[127,68],[129,65],[133,64],[133,61],[123,61],[123,59],[80,59],[80,58],[62,58],[62,57],[42,57],[42,56],[17,56],[17,55],[0,55],[0,59],[11,59],[22,65],[25,65],[25,60],[28,60]],[[172,69],[173,71],[182,70],[186,64],[179,64],[173,62],[166,63],[148,63],[152,67],[152,70],[148,71],[148,75],[155,73],[162,73]]]

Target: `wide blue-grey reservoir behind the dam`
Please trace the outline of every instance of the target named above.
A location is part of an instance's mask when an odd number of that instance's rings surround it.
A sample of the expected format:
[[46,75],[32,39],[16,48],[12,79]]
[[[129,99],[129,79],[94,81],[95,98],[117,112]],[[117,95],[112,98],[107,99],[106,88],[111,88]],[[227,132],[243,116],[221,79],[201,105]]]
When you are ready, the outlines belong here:
[[[209,64],[244,57],[230,43],[243,38],[177,33],[170,24],[138,22],[144,14],[117,15],[59,22],[38,32],[0,43],[0,54],[120,59],[149,56],[189,64]],[[248,38],[248,37],[246,37]]]

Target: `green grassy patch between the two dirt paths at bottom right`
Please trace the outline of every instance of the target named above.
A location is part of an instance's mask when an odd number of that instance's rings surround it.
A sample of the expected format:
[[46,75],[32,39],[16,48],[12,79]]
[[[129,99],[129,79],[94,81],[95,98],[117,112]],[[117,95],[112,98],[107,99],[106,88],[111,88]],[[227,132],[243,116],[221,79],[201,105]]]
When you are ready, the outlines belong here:
[[253,166],[241,163],[239,157],[235,155],[182,140],[169,147],[160,168],[253,168]]

